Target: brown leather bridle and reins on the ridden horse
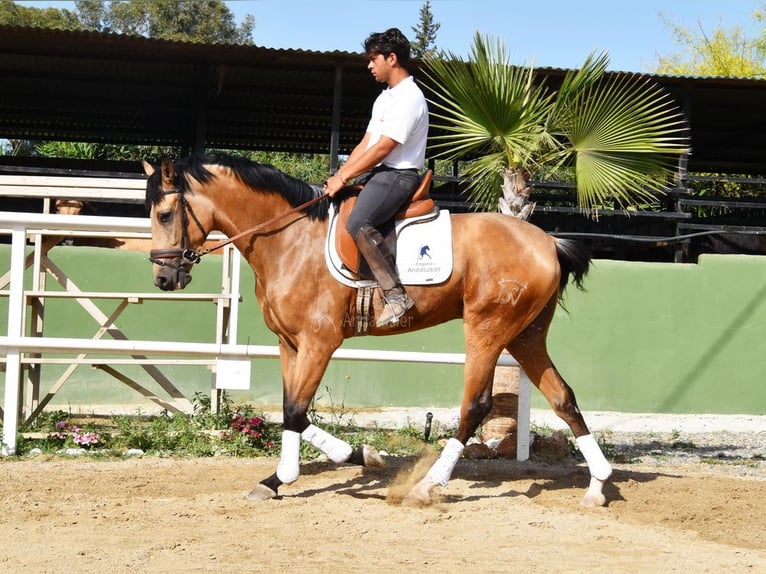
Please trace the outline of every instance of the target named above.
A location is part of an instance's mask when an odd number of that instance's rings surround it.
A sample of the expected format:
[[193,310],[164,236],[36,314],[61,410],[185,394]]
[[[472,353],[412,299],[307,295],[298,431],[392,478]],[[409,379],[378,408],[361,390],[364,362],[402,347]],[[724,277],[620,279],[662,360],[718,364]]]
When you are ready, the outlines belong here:
[[[319,203],[323,199],[326,199],[330,197],[327,193],[322,194],[320,196],[315,197],[314,199],[310,199],[309,201],[302,203],[301,205],[297,207],[293,207],[292,209],[289,209],[288,211],[285,211],[284,213],[280,213],[279,215],[275,215],[271,219],[264,221],[262,223],[259,223],[258,225],[255,225],[249,229],[246,229],[245,231],[242,231],[240,233],[237,233],[236,235],[229,237],[228,239],[225,239],[223,241],[220,241],[213,245],[212,247],[208,247],[207,249],[204,249],[197,253],[192,249],[189,241],[189,232],[188,232],[188,218],[187,218],[187,211],[189,215],[192,218],[192,221],[197,225],[197,228],[202,232],[202,237],[207,237],[207,232],[205,231],[205,228],[200,223],[197,216],[194,214],[194,210],[192,209],[191,204],[186,199],[186,196],[184,195],[184,192],[181,188],[175,187],[173,189],[168,189],[162,191],[162,195],[172,195],[172,194],[178,194],[178,203],[179,208],[181,210],[181,247],[176,247],[172,249],[152,249],[149,251],[149,261],[152,263],[159,265],[160,267],[170,267],[171,269],[175,269],[176,271],[186,271],[184,268],[184,265],[194,265],[195,263],[199,263],[202,261],[202,257],[204,255],[207,255],[208,253],[215,251],[217,249],[220,249],[229,243],[232,243],[239,239],[240,237],[245,237],[246,235],[250,235],[252,233],[255,233],[256,231],[259,231],[272,223],[276,223],[280,219],[283,219],[287,217],[288,215],[291,215],[293,213],[296,213],[298,211],[301,211],[303,209],[306,209],[307,207],[310,207],[314,205],[315,203]],[[168,261],[168,260],[175,260],[175,261]]]

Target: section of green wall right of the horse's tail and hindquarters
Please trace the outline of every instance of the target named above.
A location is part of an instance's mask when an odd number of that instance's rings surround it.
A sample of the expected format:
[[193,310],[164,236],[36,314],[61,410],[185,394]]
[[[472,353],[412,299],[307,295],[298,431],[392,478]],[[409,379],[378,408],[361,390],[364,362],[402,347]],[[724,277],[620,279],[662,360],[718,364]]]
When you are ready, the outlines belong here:
[[551,355],[590,410],[766,413],[766,257],[598,261]]

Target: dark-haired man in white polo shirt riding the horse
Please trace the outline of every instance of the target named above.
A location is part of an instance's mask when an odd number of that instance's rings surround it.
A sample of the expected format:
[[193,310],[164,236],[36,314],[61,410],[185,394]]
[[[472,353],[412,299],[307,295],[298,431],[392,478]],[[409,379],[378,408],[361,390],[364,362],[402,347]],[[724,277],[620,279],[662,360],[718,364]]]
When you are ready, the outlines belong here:
[[[407,66],[410,42],[397,28],[365,40],[367,69],[388,85],[372,107],[367,131],[348,160],[325,183],[332,197],[350,179],[365,174],[364,184],[346,229],[383,291],[385,308],[376,325],[395,325],[414,302],[402,287],[393,254],[381,228],[412,196],[425,163],[428,105]],[[368,173],[369,172],[369,173]],[[357,182],[359,183],[359,182]]]

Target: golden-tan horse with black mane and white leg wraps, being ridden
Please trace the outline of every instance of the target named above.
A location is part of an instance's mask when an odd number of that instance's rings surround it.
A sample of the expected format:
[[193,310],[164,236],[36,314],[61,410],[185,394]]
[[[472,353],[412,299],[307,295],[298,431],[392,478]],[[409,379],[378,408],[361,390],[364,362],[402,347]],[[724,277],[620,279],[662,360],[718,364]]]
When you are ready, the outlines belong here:
[[[308,417],[333,352],[354,335],[356,289],[328,271],[324,244],[329,200],[322,191],[273,166],[233,155],[165,159],[159,169],[143,162],[151,219],[155,285],[183,289],[202,254],[196,249],[218,230],[229,238],[256,276],[255,295],[266,325],[279,340],[283,427],[276,471],[248,494],[278,497],[300,476],[300,441],[336,464],[381,466],[372,447],[352,449]],[[335,201],[335,200],[333,200]],[[557,239],[501,213],[450,214],[453,269],[442,283],[408,286],[415,306],[393,326],[369,335],[391,335],[463,321],[464,388],[455,436],[404,502],[426,505],[446,487],[470,439],[492,406],[495,365],[503,350],[518,361],[554,412],[572,430],[590,471],[581,505],[603,506],[612,468],[588,430],[575,395],[548,355],[548,328],[570,282],[583,287],[591,255],[581,243]],[[379,312],[379,294],[373,298]]]

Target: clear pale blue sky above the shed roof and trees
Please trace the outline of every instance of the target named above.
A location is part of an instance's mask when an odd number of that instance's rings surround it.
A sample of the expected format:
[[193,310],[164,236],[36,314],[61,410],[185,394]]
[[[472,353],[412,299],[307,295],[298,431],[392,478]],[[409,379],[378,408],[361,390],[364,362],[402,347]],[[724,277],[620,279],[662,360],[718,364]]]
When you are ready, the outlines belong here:
[[[74,9],[74,2],[23,1]],[[370,32],[397,27],[410,39],[424,0],[231,0],[237,22],[255,17],[258,46],[361,52]],[[431,0],[440,49],[467,57],[473,35],[499,36],[516,64],[579,68],[593,51],[610,70],[650,72],[657,55],[682,51],[668,20],[708,32],[740,26],[760,36],[753,13],[766,0]]]

